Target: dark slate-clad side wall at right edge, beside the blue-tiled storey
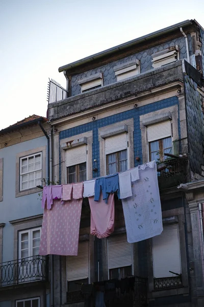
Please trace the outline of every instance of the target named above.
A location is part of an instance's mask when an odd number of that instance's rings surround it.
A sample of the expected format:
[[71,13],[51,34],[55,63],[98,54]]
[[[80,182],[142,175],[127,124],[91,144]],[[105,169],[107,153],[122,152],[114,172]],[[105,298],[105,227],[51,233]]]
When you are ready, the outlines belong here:
[[196,82],[185,75],[185,95],[187,110],[187,133],[189,143],[190,168],[194,173],[204,175],[201,165],[204,164],[204,130],[203,113],[201,109],[202,99],[197,91]]

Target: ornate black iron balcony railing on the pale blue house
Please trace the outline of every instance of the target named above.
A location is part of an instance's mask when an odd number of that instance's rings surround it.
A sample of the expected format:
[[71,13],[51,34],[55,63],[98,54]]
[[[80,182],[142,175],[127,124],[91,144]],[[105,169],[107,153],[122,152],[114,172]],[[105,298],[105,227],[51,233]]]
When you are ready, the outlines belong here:
[[0,264],[0,287],[31,281],[47,280],[47,257],[32,256],[2,262]]

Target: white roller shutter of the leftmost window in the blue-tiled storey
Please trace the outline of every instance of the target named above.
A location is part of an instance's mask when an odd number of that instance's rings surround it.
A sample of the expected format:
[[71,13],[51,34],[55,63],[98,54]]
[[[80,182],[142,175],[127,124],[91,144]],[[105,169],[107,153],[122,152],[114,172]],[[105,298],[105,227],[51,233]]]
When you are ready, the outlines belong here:
[[66,150],[66,167],[86,162],[86,145]]

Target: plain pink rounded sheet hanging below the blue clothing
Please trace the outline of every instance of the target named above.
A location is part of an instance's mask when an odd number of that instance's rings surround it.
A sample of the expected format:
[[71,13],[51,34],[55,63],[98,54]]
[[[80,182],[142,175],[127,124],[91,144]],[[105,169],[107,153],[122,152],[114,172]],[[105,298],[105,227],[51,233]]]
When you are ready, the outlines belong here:
[[114,194],[108,197],[108,204],[103,200],[103,194],[100,193],[98,202],[94,201],[94,196],[89,197],[91,209],[91,234],[97,238],[105,238],[114,231],[115,207]]

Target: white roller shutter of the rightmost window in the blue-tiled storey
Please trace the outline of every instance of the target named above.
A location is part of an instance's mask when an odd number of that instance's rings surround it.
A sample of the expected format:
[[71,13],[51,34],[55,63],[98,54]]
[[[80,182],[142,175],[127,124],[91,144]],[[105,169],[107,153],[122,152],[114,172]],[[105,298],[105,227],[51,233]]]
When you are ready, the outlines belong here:
[[171,121],[161,122],[147,127],[148,142],[164,139],[171,136]]

